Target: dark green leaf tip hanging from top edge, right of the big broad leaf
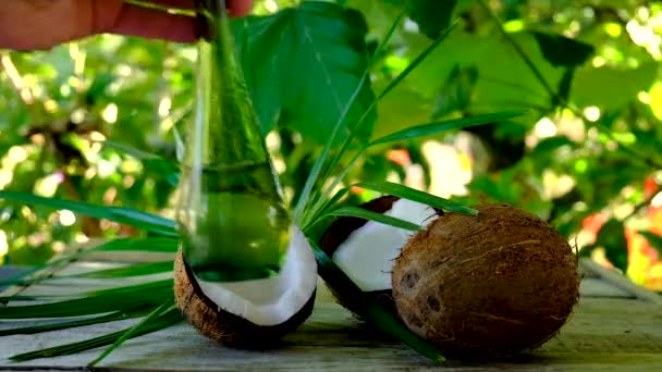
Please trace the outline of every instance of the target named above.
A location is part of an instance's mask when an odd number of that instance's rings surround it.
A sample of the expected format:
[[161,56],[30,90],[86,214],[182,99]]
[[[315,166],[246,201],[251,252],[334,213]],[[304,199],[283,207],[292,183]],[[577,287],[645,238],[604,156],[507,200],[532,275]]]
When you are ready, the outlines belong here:
[[451,24],[457,0],[412,0],[409,17],[418,24],[422,34],[437,39]]

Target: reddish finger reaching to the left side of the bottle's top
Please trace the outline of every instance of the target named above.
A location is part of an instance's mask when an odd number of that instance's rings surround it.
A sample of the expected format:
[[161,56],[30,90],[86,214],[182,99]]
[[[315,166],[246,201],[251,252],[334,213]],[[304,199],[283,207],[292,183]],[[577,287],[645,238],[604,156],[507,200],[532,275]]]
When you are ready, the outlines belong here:
[[122,7],[114,24],[106,32],[177,42],[195,40],[194,18],[128,4]]

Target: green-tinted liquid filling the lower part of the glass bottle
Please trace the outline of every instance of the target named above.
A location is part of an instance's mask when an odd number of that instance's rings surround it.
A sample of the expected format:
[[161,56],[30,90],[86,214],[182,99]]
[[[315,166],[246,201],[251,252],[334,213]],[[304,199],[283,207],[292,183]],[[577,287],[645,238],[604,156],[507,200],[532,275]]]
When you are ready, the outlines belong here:
[[[234,170],[205,170],[200,182],[207,193],[191,195],[189,215],[181,221],[184,257],[206,281],[234,282],[279,273],[290,243],[290,215],[278,198],[258,189],[223,187],[241,179],[269,182],[269,164]],[[237,179],[240,178],[240,179]]]

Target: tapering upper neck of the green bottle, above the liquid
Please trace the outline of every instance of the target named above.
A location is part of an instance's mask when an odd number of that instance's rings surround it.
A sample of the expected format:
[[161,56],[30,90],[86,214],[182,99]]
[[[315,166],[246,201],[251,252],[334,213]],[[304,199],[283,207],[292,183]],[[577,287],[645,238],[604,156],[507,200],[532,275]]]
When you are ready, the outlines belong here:
[[257,115],[234,55],[230,22],[219,0],[198,1],[198,65],[193,150],[210,168],[268,161]]

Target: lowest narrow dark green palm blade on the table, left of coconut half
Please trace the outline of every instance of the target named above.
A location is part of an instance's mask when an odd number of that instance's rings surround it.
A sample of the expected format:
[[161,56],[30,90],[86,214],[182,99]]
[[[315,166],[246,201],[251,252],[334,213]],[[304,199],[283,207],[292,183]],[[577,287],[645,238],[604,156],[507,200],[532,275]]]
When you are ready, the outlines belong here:
[[[149,324],[144,324],[139,330],[135,331],[131,335],[131,337],[132,338],[138,337],[138,336],[143,336],[143,335],[146,335],[146,334],[149,334],[152,332],[164,330],[164,328],[168,328],[170,326],[173,326],[173,325],[180,323],[181,321],[182,321],[182,315],[180,314],[179,310],[169,310],[168,312],[158,317],[155,322],[150,322]],[[19,354],[19,355],[10,357],[10,359],[13,361],[20,362],[20,361],[38,359],[38,358],[52,358],[52,357],[60,357],[60,356],[69,356],[72,354],[90,350],[90,349],[94,349],[94,348],[97,348],[100,346],[110,345],[110,344],[117,342],[120,337],[122,337],[125,334],[125,332],[128,330],[131,330],[131,327],[122,330],[122,331],[109,333],[103,336],[94,337],[94,338],[90,338],[87,340],[78,342],[78,343],[71,343],[71,344],[66,344],[66,345],[51,347],[48,349]]]

